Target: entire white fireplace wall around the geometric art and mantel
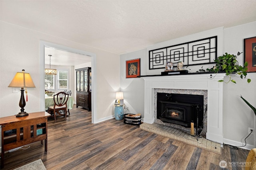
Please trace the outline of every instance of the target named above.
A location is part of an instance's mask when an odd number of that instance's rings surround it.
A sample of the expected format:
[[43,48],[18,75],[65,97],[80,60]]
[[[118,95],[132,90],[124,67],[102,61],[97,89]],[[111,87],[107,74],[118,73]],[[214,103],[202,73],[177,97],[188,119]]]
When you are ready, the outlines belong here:
[[[140,51],[134,51],[132,53],[121,55],[120,84],[122,90],[124,91],[124,100],[126,100],[127,103],[132,106],[132,108],[129,107],[128,110],[134,113],[144,113],[144,98],[142,97],[144,96],[144,81],[140,80],[142,78],[125,78],[126,60],[140,58],[142,73],[141,75],[161,74],[164,69],[148,70],[148,50],[193,41],[196,39],[211,37],[214,35],[218,35],[218,56],[223,55],[225,52],[236,55],[238,51],[244,51],[244,38],[256,36],[255,27],[256,22],[239,25],[227,29],[218,28],[159,43],[156,45],[152,45],[147,49],[142,49]],[[240,65],[243,65],[243,55],[240,55],[238,57],[238,61],[240,62]],[[209,66],[206,66],[206,68],[208,67]],[[193,69],[198,70],[198,68]],[[256,73],[248,73],[248,78],[252,79],[252,82],[250,84],[248,84],[246,80],[242,81],[242,79],[240,78],[236,78],[237,84],[224,84],[223,135],[224,143],[226,144],[235,146],[244,145],[244,138],[248,135],[248,127],[255,128],[256,116],[254,115],[253,111],[239,97],[240,95],[242,95],[256,107]],[[246,147],[244,147],[245,149],[254,148],[254,135],[248,137],[246,139],[246,143],[247,145]]]

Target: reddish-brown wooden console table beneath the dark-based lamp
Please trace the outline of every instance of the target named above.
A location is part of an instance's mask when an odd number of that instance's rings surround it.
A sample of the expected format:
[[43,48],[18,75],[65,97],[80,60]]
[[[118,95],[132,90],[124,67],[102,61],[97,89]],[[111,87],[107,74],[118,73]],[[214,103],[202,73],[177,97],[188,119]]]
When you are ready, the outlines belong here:
[[49,113],[45,111],[29,113],[28,116],[0,117],[2,126],[1,168],[4,168],[4,152],[44,140],[44,150],[47,152],[47,120]]

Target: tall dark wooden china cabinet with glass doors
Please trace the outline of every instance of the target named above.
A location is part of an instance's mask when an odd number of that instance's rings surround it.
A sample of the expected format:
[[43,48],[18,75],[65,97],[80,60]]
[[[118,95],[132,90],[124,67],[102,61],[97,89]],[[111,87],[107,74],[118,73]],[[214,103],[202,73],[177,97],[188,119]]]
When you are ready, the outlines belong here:
[[91,67],[76,69],[76,107],[92,110]]

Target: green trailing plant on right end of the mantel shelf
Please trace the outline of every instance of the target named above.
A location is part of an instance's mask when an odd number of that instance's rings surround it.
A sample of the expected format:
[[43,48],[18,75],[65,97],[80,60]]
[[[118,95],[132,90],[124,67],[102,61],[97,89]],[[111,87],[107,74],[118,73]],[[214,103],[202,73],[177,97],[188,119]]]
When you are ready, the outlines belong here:
[[[240,53],[238,52],[238,55]],[[238,61],[236,60],[236,56],[232,54],[225,53],[225,55],[218,57],[214,61],[216,62],[215,66],[211,69],[207,69],[211,72],[225,72],[227,76],[229,76],[228,82],[236,83],[234,79],[231,79],[231,77],[240,77],[240,78],[246,78],[247,76],[247,61],[244,63],[244,66],[240,66],[238,64]],[[250,83],[251,79],[246,78],[247,82]],[[224,82],[224,80],[219,80],[218,82]],[[226,83],[228,83],[226,82]]]

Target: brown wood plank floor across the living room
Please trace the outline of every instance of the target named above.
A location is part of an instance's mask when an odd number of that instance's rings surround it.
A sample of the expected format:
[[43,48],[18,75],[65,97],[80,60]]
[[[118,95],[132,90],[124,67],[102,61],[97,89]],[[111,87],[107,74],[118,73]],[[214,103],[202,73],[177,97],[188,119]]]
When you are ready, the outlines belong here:
[[218,170],[221,160],[245,162],[248,152],[224,146],[222,154],[216,154],[115,119],[92,124],[91,112],[74,105],[67,121],[62,117],[57,123],[48,121],[48,152],[40,142],[27,150],[8,152],[4,170],[37,159],[42,159],[47,170]]

